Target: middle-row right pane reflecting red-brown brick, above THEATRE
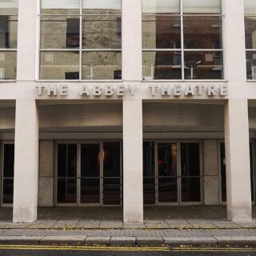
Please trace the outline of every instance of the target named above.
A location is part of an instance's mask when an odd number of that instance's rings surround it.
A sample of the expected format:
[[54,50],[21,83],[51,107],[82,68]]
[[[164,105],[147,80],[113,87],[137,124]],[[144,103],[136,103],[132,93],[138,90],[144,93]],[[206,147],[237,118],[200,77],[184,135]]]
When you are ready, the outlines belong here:
[[184,48],[221,49],[222,18],[218,16],[185,16]]

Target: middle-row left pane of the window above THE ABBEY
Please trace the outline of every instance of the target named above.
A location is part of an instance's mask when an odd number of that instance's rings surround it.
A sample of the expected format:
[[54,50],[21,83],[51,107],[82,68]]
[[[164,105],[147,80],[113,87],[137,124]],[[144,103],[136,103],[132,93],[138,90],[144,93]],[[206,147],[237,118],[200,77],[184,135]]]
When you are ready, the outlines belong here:
[[79,18],[72,16],[42,16],[41,48],[79,48]]

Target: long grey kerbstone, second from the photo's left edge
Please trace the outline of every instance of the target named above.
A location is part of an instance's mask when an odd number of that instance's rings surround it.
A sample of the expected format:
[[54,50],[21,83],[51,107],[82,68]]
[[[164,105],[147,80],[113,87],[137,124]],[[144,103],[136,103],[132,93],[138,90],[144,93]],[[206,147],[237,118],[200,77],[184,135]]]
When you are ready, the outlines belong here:
[[42,245],[68,245],[82,246],[85,244],[86,237],[70,237],[70,236],[46,236],[42,238]]

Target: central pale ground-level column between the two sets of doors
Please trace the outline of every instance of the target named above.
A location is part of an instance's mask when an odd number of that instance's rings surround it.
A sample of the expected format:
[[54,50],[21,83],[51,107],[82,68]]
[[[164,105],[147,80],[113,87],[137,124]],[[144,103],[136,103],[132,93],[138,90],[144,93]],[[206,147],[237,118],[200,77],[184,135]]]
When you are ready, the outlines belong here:
[[142,100],[123,101],[123,222],[143,222]]

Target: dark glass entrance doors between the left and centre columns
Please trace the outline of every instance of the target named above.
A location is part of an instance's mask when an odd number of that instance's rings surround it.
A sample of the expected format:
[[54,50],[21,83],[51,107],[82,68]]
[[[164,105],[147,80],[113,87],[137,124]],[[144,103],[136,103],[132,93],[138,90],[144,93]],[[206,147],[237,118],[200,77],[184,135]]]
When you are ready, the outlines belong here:
[[121,206],[121,142],[58,142],[57,206]]

